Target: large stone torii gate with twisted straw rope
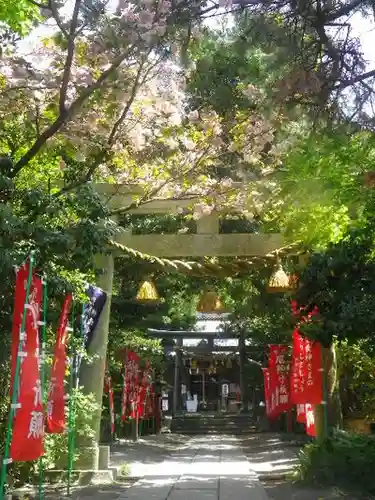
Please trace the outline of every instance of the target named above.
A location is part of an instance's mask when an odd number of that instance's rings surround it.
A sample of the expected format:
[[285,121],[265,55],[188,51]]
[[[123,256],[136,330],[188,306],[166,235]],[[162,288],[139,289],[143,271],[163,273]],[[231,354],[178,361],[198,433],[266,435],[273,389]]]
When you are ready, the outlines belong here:
[[[96,184],[95,189],[104,204],[110,207],[112,211],[118,211],[118,213],[124,211],[126,213],[149,215],[178,214],[181,208],[188,209],[201,201],[199,199],[156,199],[138,206],[136,200],[143,194],[141,188]],[[86,449],[83,453],[80,468],[90,470],[98,470],[99,468],[101,407],[111,311],[114,258],[116,254],[125,251],[135,254],[140,260],[143,258],[156,263],[168,262],[173,270],[173,268],[178,268],[177,264],[173,264],[174,262],[180,264],[183,264],[183,262],[181,260],[167,261],[166,258],[247,257],[250,258],[250,261],[253,261],[259,257],[268,257],[268,259],[273,260],[275,251],[283,247],[286,248],[284,239],[280,234],[220,234],[219,218],[220,215],[217,213],[202,217],[197,221],[196,234],[133,235],[129,231],[120,230],[116,239],[109,242],[110,248],[108,251],[97,256],[95,262],[98,270],[97,285],[106,292],[107,301],[89,349],[93,362],[82,366],[81,384],[86,393],[94,394],[99,410],[94,417],[94,442],[90,443],[89,446],[88,443],[86,443],[87,446],[85,444]],[[204,270],[202,273],[202,266],[199,263],[190,262],[187,268],[192,268],[191,264],[193,264],[193,267],[194,264],[198,265],[197,274],[202,275],[204,273]]]

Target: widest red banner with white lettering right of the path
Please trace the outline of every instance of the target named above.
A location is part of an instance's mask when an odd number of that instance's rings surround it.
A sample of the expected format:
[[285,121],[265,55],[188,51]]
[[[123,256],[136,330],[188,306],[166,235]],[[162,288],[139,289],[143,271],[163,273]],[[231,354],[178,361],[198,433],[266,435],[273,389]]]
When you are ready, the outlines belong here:
[[293,332],[293,354],[290,376],[290,395],[293,404],[322,402],[321,346]]

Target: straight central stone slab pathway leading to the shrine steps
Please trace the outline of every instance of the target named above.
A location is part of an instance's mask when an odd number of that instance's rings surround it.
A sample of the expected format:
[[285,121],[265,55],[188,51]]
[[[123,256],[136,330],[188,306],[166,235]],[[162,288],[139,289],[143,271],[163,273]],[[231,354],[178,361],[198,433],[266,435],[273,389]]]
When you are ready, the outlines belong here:
[[267,500],[267,494],[232,436],[185,441],[161,462],[147,464],[143,478],[115,500]]

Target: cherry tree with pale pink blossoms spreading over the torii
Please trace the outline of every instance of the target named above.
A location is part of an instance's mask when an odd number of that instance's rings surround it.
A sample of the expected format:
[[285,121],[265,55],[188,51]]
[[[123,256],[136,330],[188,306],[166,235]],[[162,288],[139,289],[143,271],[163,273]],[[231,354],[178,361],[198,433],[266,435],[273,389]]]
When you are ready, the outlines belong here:
[[[77,0],[68,11],[54,1],[40,7],[52,35],[33,54],[14,51],[2,61],[0,141],[12,159],[2,164],[9,179],[52,186],[53,199],[103,180],[143,185],[136,204],[198,194],[196,217],[228,204],[243,210],[249,192],[252,203],[264,195],[253,184],[234,188],[236,176],[218,179],[213,167],[232,151],[239,169],[258,164],[262,174],[277,113],[262,116],[260,103],[258,112],[238,113],[223,127],[210,106],[186,107],[179,55],[215,4],[119,2],[111,10]],[[256,93],[254,86],[243,91],[250,99]],[[65,185],[56,191],[58,179]]]

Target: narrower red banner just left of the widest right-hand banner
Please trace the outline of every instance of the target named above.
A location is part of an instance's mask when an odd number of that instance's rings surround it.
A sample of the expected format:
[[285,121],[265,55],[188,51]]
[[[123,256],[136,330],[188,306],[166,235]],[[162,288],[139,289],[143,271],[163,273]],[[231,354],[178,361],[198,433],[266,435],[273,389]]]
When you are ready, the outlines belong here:
[[289,398],[289,363],[288,346],[270,345],[269,377],[270,377],[270,414],[278,416],[288,411]]

